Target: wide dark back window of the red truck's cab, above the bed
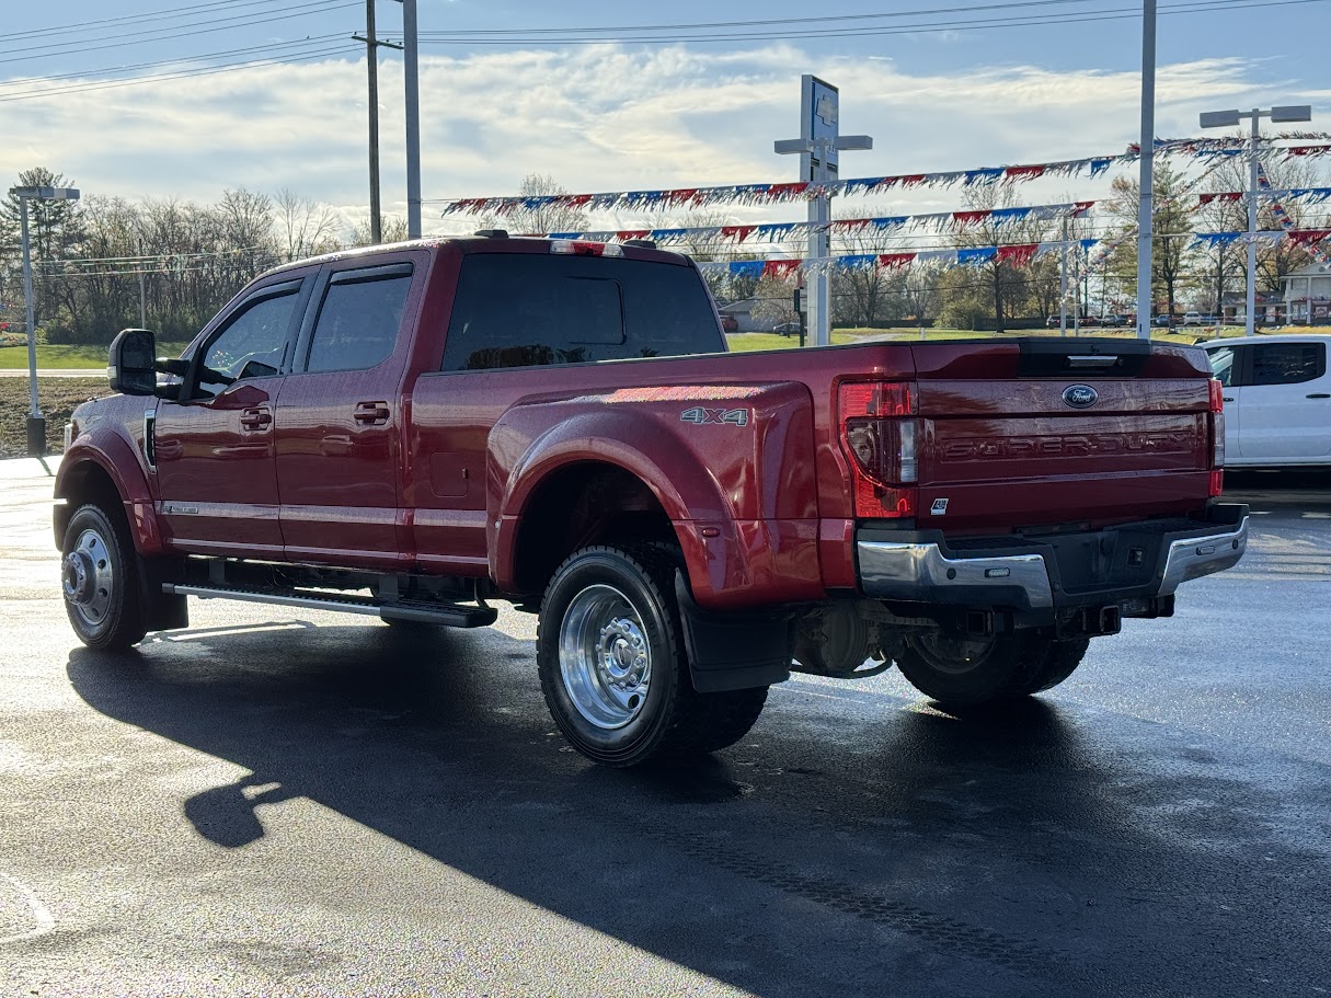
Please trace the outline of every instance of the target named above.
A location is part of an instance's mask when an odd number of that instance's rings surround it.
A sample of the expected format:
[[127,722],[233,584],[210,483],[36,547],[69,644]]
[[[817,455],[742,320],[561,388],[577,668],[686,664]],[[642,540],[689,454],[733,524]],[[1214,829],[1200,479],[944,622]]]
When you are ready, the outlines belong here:
[[442,370],[724,349],[707,287],[692,267],[486,253],[462,261]]

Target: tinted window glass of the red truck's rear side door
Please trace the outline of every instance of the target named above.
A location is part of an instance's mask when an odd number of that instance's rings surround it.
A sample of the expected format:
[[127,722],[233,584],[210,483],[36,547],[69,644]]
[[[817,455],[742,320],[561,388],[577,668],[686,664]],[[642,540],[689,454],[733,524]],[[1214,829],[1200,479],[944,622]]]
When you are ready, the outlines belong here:
[[387,359],[398,342],[411,274],[329,285],[310,342],[307,371],[362,371]]

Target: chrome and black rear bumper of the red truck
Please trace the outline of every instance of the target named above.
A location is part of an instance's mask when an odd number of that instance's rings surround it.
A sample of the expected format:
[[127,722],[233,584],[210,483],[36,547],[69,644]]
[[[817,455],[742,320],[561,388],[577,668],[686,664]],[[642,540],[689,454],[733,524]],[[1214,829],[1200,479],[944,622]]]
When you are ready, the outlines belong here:
[[[1209,523],[1181,530],[1153,532],[1149,526],[1126,524],[1067,539],[1014,538],[1008,550],[989,544],[973,552],[953,551],[934,531],[898,540],[890,531],[861,530],[856,554],[860,585],[872,599],[1013,607],[1047,616],[1065,607],[1173,596],[1182,583],[1236,564],[1247,548],[1247,507],[1218,504]],[[1154,550],[1146,550],[1147,544]],[[1141,560],[1106,570],[1099,579],[1090,574],[1093,580],[1073,584],[1077,571],[1085,567],[1073,563],[1075,559],[1089,563],[1110,552],[1105,558],[1111,563],[1113,552],[1122,548],[1141,551]],[[1117,631],[1117,617],[1105,619],[1099,627],[1107,633]]]

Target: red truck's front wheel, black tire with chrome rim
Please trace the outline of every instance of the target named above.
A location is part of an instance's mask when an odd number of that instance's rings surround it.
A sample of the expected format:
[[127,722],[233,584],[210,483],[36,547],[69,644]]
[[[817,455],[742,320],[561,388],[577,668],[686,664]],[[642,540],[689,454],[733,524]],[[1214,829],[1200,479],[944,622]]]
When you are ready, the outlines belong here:
[[65,613],[89,648],[124,651],[148,633],[138,555],[120,510],[88,503],[69,518],[60,566]]

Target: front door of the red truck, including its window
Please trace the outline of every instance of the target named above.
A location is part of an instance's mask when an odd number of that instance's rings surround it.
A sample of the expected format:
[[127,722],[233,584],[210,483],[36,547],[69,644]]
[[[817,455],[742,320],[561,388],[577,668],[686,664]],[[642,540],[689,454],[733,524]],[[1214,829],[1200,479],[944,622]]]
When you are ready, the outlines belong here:
[[157,403],[158,511],[177,551],[281,556],[274,401],[301,287],[298,278],[258,289],[221,317],[193,354],[188,401]]

